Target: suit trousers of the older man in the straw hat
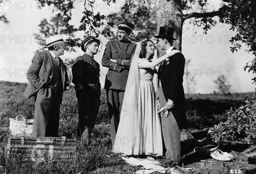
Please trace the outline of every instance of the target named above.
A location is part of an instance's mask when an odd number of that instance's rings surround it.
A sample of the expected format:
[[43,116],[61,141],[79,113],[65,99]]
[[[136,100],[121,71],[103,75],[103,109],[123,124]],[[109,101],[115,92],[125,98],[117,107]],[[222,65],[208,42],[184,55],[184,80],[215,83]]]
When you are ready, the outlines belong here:
[[60,118],[61,91],[42,88],[35,98],[34,137],[57,137]]

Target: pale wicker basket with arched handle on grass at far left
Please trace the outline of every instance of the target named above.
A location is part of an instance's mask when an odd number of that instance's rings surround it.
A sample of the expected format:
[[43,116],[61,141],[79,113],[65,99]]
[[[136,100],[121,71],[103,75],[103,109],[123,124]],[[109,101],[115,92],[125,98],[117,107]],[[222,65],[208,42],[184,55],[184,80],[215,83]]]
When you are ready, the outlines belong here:
[[22,115],[17,115],[15,119],[9,118],[9,120],[12,135],[32,135],[34,119],[25,119]]

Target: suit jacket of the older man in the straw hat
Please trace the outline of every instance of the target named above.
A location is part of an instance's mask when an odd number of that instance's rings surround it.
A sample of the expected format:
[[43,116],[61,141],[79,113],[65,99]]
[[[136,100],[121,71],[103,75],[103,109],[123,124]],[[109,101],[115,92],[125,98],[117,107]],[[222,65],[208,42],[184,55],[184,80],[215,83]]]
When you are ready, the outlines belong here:
[[[55,86],[55,84],[58,83],[58,81],[52,80],[55,68],[53,61],[54,58],[49,51],[35,54],[32,58],[32,64],[26,74],[29,84],[23,94],[25,97],[31,98],[32,96],[36,96],[37,92],[44,84],[48,86]],[[64,63],[61,59],[59,59],[59,64],[62,79],[62,84],[59,87],[63,87],[63,89],[65,89],[65,79],[67,79],[65,76],[67,74],[65,73]],[[63,93],[61,95],[63,96]]]

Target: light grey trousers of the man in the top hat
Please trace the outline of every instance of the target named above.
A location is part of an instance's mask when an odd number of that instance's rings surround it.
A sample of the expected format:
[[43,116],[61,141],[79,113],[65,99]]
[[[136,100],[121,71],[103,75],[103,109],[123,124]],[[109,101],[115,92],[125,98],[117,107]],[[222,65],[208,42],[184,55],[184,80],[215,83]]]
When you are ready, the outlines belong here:
[[[162,87],[159,88],[160,108],[166,106]],[[180,129],[171,111],[167,118],[161,117],[163,145],[166,148],[166,158],[180,161]],[[163,148],[164,149],[164,148]]]

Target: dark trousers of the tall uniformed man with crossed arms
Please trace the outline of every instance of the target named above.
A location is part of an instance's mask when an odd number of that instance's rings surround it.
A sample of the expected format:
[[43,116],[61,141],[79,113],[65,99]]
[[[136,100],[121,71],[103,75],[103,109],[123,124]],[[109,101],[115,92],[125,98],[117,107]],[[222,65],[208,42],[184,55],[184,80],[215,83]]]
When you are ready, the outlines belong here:
[[115,137],[120,120],[120,111],[124,99],[125,90],[106,89],[108,100],[108,112],[110,120],[110,135],[112,146],[115,143]]

